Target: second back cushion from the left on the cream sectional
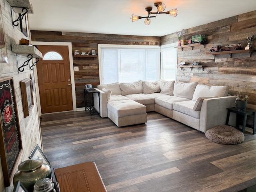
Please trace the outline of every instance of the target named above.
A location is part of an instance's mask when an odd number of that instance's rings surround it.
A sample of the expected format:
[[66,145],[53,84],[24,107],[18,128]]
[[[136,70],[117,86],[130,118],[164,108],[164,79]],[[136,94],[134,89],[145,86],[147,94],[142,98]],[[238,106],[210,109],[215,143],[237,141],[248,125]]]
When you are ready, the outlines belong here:
[[120,89],[122,95],[143,93],[143,81],[138,80],[133,83],[120,83]]

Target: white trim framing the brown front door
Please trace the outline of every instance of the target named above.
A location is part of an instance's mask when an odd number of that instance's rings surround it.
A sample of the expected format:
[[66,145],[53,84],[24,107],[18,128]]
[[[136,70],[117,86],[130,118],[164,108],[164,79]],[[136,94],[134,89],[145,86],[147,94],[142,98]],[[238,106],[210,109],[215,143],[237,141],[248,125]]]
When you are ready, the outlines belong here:
[[[44,41],[32,41],[33,45],[60,45],[60,46],[68,46],[68,54],[69,54],[69,64],[70,64],[70,77],[71,77],[71,88],[72,88],[72,101],[73,101],[73,110],[76,111],[76,89],[75,89],[75,77],[74,77],[74,64],[73,64],[73,55],[72,55],[72,43],[71,42],[44,42]],[[37,69],[36,69],[37,70]],[[36,73],[37,74],[37,73]],[[39,115],[42,114],[41,110],[41,102],[40,102],[40,94],[39,94],[39,86],[38,86],[38,78],[36,76],[36,92],[38,92],[38,97],[36,97],[37,107]]]

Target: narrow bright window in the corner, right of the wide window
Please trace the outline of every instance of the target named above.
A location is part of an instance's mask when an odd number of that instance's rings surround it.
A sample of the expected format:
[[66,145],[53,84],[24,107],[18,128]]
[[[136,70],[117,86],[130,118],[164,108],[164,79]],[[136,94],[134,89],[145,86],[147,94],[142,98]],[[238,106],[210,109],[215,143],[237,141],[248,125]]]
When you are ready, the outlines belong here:
[[161,79],[166,81],[176,80],[177,77],[177,43],[161,47]]

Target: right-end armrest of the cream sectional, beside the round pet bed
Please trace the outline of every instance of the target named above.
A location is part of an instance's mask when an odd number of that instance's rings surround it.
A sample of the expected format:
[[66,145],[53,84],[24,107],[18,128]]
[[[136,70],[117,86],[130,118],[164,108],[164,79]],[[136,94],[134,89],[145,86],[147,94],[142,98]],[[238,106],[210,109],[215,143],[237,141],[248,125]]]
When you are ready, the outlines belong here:
[[204,99],[200,111],[199,131],[205,133],[216,125],[226,124],[227,108],[234,107],[235,100],[235,95]]

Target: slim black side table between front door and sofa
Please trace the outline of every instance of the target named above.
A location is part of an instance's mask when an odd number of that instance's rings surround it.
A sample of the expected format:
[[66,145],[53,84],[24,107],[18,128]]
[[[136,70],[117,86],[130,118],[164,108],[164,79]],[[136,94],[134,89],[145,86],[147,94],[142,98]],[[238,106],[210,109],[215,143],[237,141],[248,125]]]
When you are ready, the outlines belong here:
[[[89,95],[89,105],[86,105],[86,95],[87,95],[86,93]],[[94,108],[94,98],[93,98],[94,93],[98,93],[98,97],[100,99],[100,92],[98,90],[96,89],[87,90],[86,88],[84,88],[84,107],[85,107],[85,110],[86,109],[90,110],[91,118],[92,118],[92,115],[100,115],[100,106],[99,106],[99,112],[96,111],[96,109]],[[100,102],[99,102],[99,105],[100,105]]]

